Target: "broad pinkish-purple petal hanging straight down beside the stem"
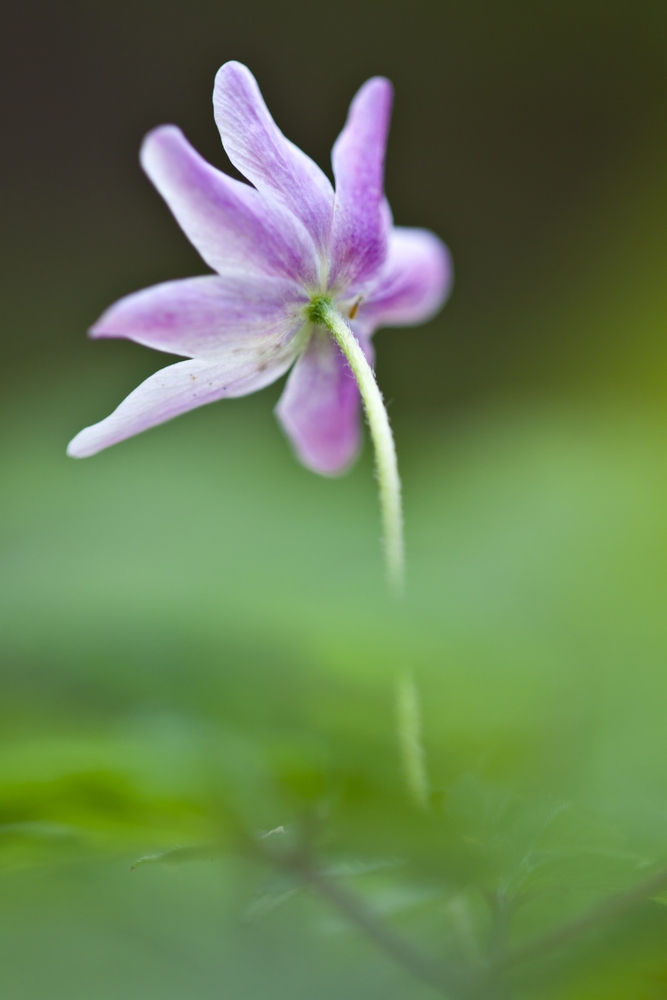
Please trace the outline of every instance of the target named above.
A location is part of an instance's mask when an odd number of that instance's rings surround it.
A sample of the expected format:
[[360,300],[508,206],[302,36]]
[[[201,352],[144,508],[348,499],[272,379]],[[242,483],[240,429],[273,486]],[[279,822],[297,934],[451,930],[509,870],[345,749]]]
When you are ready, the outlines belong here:
[[[372,360],[372,347],[362,341]],[[305,466],[336,476],[361,445],[361,399],[354,375],[331,336],[315,328],[290,372],[276,416]]]

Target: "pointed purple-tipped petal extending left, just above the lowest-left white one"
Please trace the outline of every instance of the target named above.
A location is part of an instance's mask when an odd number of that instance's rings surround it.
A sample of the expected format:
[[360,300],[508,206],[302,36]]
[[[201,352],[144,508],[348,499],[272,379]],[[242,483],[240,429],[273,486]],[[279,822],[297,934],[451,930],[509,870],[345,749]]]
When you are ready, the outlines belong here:
[[186,357],[239,362],[280,352],[303,326],[306,296],[294,282],[229,272],[167,281],[127,295],[91,329]]

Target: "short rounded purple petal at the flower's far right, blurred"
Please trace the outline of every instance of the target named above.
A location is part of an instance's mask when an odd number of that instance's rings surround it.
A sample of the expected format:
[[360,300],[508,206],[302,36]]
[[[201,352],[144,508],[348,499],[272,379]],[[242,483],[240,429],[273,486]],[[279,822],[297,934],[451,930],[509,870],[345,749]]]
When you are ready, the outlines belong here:
[[377,284],[359,308],[367,329],[424,323],[442,308],[452,288],[449,250],[427,229],[397,226]]

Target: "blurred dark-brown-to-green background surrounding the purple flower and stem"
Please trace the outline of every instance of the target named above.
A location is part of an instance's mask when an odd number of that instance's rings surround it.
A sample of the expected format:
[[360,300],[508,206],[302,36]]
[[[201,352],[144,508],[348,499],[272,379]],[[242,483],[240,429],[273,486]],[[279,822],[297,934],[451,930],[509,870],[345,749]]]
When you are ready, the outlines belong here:
[[[3,1000],[434,995],[221,852],[231,816],[316,815],[331,870],[454,961],[667,863],[666,51],[660,0],[5,0]],[[165,363],[86,328],[205,270],[137,150],[175,122],[233,172],[210,101],[231,58],[325,169],[353,92],[389,76],[395,218],[454,255],[442,315],[377,335],[399,611],[368,448],[341,480],[301,469],[280,385],[65,458]],[[664,902],[506,989],[667,997]]]

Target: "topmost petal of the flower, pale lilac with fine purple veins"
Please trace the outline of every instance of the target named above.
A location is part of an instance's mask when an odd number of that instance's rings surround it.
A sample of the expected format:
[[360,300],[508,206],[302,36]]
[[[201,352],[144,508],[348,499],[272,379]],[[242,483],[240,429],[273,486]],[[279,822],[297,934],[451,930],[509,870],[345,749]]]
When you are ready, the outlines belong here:
[[213,109],[222,144],[237,170],[258,191],[285,205],[324,250],[331,231],[331,183],[309,156],[285,138],[246,66],[238,62],[221,66]]

